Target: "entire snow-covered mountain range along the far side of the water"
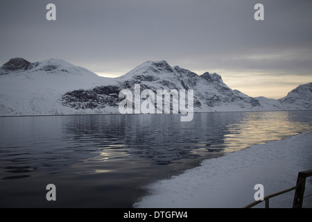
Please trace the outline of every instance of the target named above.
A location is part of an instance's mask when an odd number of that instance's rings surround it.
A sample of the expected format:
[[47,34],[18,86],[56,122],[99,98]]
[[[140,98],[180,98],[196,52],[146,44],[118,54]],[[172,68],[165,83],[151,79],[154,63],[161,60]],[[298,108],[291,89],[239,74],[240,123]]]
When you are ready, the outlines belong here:
[[0,67],[0,115],[119,113],[119,92],[193,89],[194,112],[312,110],[312,83],[281,99],[251,97],[229,88],[218,74],[198,75],[166,61],[148,61],[118,78],[105,78],[64,60],[12,58]]

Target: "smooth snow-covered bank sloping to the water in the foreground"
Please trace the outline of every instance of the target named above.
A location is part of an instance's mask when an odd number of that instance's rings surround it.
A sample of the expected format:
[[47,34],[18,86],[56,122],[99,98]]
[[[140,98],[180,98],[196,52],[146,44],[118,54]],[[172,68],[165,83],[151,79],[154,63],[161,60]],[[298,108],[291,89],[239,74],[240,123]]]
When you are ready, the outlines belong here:
[[[297,173],[312,169],[312,131],[227,153],[168,180],[146,187],[134,207],[243,207],[254,201],[254,185],[264,196],[295,186]],[[307,178],[304,195],[312,193]],[[270,199],[270,207],[292,207],[294,191]],[[264,203],[255,207],[263,207]],[[312,207],[312,196],[303,207]]]

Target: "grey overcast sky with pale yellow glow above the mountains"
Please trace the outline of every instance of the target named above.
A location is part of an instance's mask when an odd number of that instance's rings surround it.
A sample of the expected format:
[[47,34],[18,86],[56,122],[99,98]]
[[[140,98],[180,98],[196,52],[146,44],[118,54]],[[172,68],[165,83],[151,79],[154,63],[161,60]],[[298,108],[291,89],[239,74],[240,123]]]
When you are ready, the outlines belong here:
[[0,0],[0,30],[1,65],[60,58],[112,77],[166,60],[275,99],[312,82],[311,0]]

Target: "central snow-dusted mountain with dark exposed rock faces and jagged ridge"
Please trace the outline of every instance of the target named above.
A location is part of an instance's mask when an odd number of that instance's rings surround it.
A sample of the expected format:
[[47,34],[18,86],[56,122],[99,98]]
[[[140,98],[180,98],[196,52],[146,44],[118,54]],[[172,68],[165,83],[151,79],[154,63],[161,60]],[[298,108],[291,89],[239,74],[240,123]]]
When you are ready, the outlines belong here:
[[257,99],[232,90],[218,74],[206,72],[201,76],[178,66],[171,67],[166,61],[144,62],[127,74],[115,78],[118,84],[95,87],[89,90],[74,90],[62,96],[62,104],[71,108],[118,107],[121,89],[134,92],[135,84],[141,89],[193,89],[195,112],[218,110],[256,110],[261,108]]

